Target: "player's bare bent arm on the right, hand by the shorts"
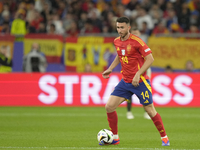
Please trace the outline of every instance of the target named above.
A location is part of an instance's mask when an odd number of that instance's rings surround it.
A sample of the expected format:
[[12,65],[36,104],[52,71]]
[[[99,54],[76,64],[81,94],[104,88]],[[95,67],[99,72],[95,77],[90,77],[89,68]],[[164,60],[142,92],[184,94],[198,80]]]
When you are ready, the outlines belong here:
[[138,72],[135,74],[135,76],[134,76],[134,78],[132,80],[133,86],[138,86],[139,85],[140,76],[151,66],[151,64],[154,61],[154,58],[153,58],[152,54],[148,54],[144,58],[145,58],[145,62],[143,64],[143,66],[138,70]]

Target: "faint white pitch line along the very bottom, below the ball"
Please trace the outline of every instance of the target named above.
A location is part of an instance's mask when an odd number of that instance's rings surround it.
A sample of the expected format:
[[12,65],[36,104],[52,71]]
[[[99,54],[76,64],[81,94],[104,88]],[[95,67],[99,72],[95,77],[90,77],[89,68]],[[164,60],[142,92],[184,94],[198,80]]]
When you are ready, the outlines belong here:
[[165,149],[165,148],[123,148],[123,147],[4,147],[0,149],[117,149],[117,150],[200,150],[200,149]]

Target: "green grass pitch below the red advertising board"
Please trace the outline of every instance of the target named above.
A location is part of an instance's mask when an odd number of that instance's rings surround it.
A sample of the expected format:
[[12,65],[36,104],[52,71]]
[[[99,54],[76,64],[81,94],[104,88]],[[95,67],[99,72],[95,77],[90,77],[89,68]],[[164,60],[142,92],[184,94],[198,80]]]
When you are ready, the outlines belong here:
[[170,146],[161,146],[142,107],[117,108],[119,145],[99,146],[97,133],[108,128],[104,107],[0,107],[0,149],[5,150],[181,150],[200,149],[200,108],[157,107]]

